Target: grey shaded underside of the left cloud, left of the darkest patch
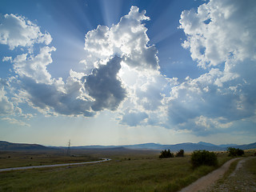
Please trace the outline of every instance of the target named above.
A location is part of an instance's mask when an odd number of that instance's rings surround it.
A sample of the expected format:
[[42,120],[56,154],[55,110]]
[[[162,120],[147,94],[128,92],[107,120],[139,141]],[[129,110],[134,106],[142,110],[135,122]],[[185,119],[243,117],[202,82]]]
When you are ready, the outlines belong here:
[[37,83],[32,78],[22,78],[20,86],[26,90],[26,99],[30,105],[46,112],[53,109],[58,114],[94,116],[94,112],[90,111],[91,102],[76,97],[78,90],[65,93],[58,90],[58,85]]

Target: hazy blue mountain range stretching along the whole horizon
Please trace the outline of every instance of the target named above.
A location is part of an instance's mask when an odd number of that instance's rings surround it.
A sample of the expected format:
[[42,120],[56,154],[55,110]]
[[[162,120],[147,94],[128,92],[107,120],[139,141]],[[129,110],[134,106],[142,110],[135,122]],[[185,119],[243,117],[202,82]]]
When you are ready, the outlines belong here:
[[[256,142],[250,143],[247,145],[235,145],[235,144],[226,144],[226,145],[214,145],[210,142],[185,142],[175,145],[161,145],[156,143],[144,143],[137,145],[124,145],[124,146],[71,146],[72,149],[81,149],[81,150],[168,150],[175,152],[178,150],[185,150],[186,152],[194,150],[210,150],[210,151],[223,151],[228,147],[235,147],[242,150],[256,149]],[[0,141],[0,150],[52,150],[60,149],[66,147],[47,147],[37,144],[23,144],[23,143],[12,143],[12,142],[1,142]]]

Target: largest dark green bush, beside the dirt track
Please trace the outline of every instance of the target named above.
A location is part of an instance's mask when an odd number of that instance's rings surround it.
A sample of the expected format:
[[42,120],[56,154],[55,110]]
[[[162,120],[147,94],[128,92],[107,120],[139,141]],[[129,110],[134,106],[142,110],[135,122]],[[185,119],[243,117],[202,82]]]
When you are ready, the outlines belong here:
[[217,166],[217,155],[214,152],[208,150],[194,150],[191,156],[192,166],[194,168],[198,166]]

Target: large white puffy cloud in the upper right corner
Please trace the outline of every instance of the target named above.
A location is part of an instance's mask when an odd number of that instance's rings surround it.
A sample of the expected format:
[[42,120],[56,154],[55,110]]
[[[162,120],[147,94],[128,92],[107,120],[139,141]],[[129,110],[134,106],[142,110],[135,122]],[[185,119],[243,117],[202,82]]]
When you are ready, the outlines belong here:
[[183,46],[199,66],[216,66],[230,58],[256,59],[256,2],[212,0],[198,10],[182,11]]

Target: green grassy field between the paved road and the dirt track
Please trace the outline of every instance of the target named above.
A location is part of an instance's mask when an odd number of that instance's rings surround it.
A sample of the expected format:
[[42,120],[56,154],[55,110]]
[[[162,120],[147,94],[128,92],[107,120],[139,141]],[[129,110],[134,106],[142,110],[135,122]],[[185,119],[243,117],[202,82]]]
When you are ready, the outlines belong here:
[[[178,191],[216,168],[201,166],[193,170],[189,154],[167,159],[159,159],[158,151],[146,150],[81,150],[82,154],[113,160],[4,172],[0,174],[0,191]],[[226,153],[218,154],[219,165],[228,159]]]

